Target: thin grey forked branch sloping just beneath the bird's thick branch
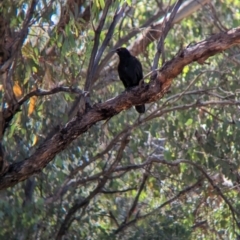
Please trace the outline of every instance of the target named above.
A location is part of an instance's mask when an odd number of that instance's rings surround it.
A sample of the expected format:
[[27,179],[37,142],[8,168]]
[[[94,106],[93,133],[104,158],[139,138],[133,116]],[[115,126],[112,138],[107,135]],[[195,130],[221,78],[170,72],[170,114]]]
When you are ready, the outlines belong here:
[[[154,118],[159,118],[161,116],[163,116],[166,113],[169,113],[171,111],[182,111],[185,109],[193,109],[193,108],[200,108],[202,106],[224,106],[224,105],[240,105],[240,102],[236,102],[234,100],[231,101],[207,101],[207,102],[199,102],[196,101],[192,104],[187,104],[187,105],[178,105],[178,106],[173,106],[171,108],[169,108],[169,104],[172,105],[173,103],[175,103],[176,101],[178,101],[182,96],[186,96],[186,95],[203,95],[203,94],[207,94],[207,95],[212,95],[214,97],[217,97],[219,99],[227,99],[227,96],[220,96],[218,94],[215,93],[211,93],[209,91],[213,90],[213,89],[200,89],[200,90],[194,90],[194,91],[186,91],[187,89],[189,89],[190,86],[192,86],[193,82],[196,81],[196,79],[202,75],[203,73],[207,73],[209,71],[204,71],[202,73],[200,73],[195,79],[193,79],[193,81],[189,84],[189,86],[182,92],[182,93],[178,93],[175,94],[173,96],[170,96],[169,98],[166,99],[165,102],[163,102],[162,107],[159,109],[157,109],[156,111],[152,112],[150,115],[146,116],[145,118],[141,119],[140,121],[137,120],[135,123],[133,123],[130,126],[126,126],[120,133],[118,133],[110,142],[109,144],[106,146],[106,148],[101,151],[100,153],[96,154],[94,157],[92,157],[91,159],[89,159],[89,161],[84,162],[81,166],[76,167],[70,174],[69,176],[66,178],[66,180],[61,184],[61,186],[58,188],[58,190],[56,191],[56,193],[51,196],[48,197],[45,202],[46,203],[52,203],[57,201],[60,197],[63,197],[63,195],[72,187],[77,187],[79,185],[82,184],[86,184],[87,182],[92,182],[92,181],[96,181],[101,175],[103,175],[102,173],[98,173],[95,174],[94,176],[89,176],[87,179],[84,180],[73,180],[74,177],[76,176],[77,173],[79,173],[80,171],[83,171],[83,169],[88,166],[89,164],[93,163],[94,161],[103,158],[104,154],[106,154],[107,152],[109,152],[118,142],[120,142],[120,138],[126,133],[126,132],[131,132],[133,129],[137,128],[139,125],[146,123],[148,121],[151,121]],[[168,107],[167,109],[164,109]],[[143,168],[145,165],[149,164],[148,161],[140,164],[140,165],[132,165],[132,166],[128,166],[126,171],[131,171],[131,169],[140,169]],[[125,169],[125,167],[123,167],[123,169]],[[124,170],[122,170],[124,171]]]

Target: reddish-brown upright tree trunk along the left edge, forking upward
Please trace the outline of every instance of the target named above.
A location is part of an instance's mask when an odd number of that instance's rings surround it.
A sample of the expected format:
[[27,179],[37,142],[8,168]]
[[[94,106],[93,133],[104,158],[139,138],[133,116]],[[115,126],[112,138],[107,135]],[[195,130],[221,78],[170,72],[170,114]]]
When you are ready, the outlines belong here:
[[[1,141],[3,139],[6,126],[9,124],[13,115],[19,109],[17,105],[17,99],[13,92],[14,84],[13,84],[12,77],[13,77],[13,72],[15,70],[15,66],[17,65],[18,53],[19,53],[20,47],[23,44],[23,41],[25,40],[28,34],[28,26],[31,19],[33,18],[36,4],[37,4],[36,0],[32,0],[29,3],[26,17],[22,24],[22,29],[18,34],[16,34],[15,39],[12,39],[12,41],[9,41],[11,42],[11,44],[9,44],[8,41],[5,41],[7,38],[10,39],[10,37],[8,36],[9,32],[11,32],[10,25],[7,23],[7,21],[5,21],[4,18],[1,18],[1,24],[5,23],[4,25],[6,26],[0,26],[0,28],[3,27],[4,29],[4,30],[1,30],[2,35],[0,40],[0,52],[4,50],[3,52],[4,52],[4,55],[6,56],[4,56],[4,58],[1,59],[0,61],[0,81],[3,83],[3,88],[4,88],[4,96],[1,103],[2,110],[0,112],[0,143],[1,143],[0,147],[2,147]],[[4,46],[2,46],[2,41],[5,41],[3,42]],[[6,105],[8,106],[8,108],[4,109],[4,106]],[[7,170],[7,167],[8,167],[8,163],[4,159],[4,154],[0,154],[0,175],[3,175],[5,173],[5,171]]]

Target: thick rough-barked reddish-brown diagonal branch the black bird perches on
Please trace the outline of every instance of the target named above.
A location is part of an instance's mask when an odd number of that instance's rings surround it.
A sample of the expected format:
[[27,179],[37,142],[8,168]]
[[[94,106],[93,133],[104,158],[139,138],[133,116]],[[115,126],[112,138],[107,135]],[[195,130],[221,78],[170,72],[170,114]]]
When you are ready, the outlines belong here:
[[165,63],[155,80],[145,86],[125,91],[104,103],[95,104],[82,116],[76,116],[69,121],[52,138],[43,142],[29,158],[11,164],[8,171],[0,178],[0,189],[14,186],[40,172],[56,154],[63,151],[74,139],[88,131],[97,122],[113,117],[133,105],[159,100],[169,89],[173,78],[182,72],[184,66],[195,61],[203,63],[210,56],[221,53],[236,44],[240,44],[240,27],[213,35],[194,46],[185,48]]

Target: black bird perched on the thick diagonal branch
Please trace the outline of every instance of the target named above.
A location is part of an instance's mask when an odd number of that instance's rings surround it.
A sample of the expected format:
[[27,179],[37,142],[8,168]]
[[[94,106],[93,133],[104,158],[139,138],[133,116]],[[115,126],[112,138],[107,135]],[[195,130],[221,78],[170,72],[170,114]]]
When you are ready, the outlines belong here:
[[[142,64],[131,55],[126,48],[117,48],[116,53],[119,56],[118,75],[126,89],[139,85],[143,79]],[[139,113],[145,112],[144,105],[135,106]]]

